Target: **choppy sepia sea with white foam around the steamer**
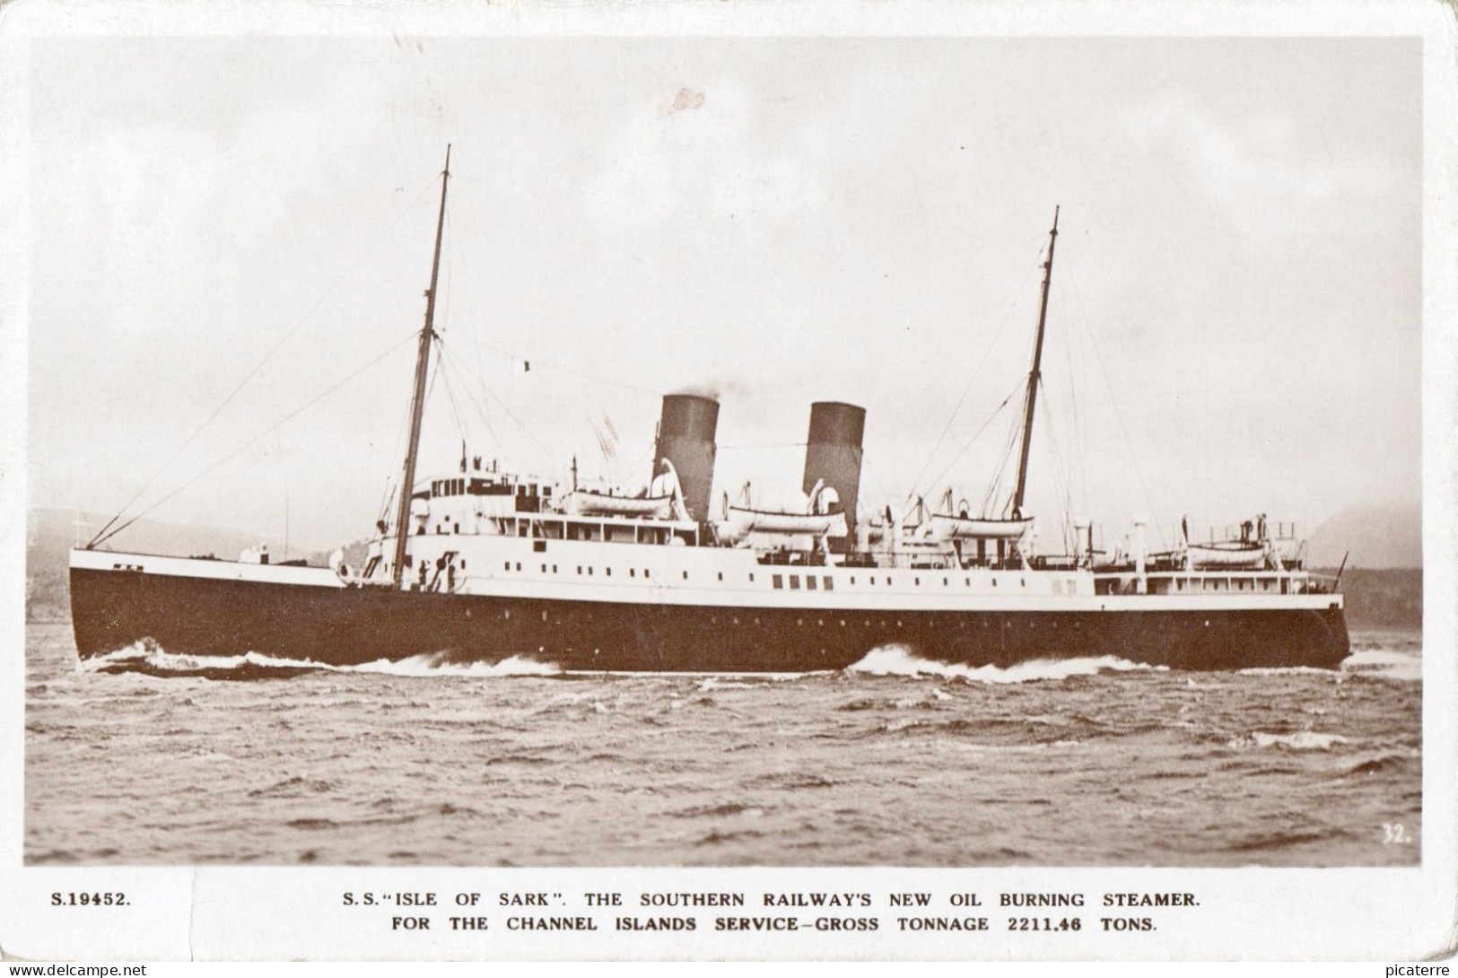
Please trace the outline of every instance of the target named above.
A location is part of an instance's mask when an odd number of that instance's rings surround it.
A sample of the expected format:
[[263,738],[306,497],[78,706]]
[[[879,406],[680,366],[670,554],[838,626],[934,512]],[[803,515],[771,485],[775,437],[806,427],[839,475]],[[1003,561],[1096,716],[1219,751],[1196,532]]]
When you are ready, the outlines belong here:
[[83,666],[69,624],[32,624],[25,857],[1417,864],[1422,637],[1353,650],[1340,672],[886,647],[834,673],[580,676],[141,647]]

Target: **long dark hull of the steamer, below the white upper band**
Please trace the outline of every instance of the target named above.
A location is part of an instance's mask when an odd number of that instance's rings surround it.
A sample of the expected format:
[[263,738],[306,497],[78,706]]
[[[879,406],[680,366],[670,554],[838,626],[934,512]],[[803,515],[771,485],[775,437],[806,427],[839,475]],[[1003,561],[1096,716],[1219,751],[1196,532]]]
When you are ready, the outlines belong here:
[[1115,656],[1171,669],[1311,666],[1349,653],[1340,602],[1222,609],[869,611],[693,606],[330,587],[73,567],[80,656],[155,641],[331,666],[512,656],[564,670],[809,672],[882,646],[968,666]]

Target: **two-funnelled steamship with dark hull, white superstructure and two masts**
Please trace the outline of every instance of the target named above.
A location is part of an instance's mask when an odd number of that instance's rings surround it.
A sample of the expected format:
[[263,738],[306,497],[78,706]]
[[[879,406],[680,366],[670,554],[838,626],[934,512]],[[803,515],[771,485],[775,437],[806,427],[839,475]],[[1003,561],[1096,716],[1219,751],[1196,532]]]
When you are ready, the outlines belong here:
[[[1057,214],[1044,262],[1024,395],[1016,488],[974,513],[865,507],[866,414],[811,405],[802,494],[712,498],[719,404],[662,401],[643,491],[583,487],[462,455],[417,481],[451,157],[442,172],[411,423],[392,520],[359,566],[109,549],[104,528],[70,554],[82,657],[149,647],[194,656],[260,653],[332,666],[429,657],[509,657],[589,672],[844,669],[885,646],[968,666],[1115,656],[1172,669],[1337,668],[1343,598],[1308,571],[1264,517],[1229,539],[1150,552],[1040,555],[1022,512],[1047,324]],[[573,466],[576,469],[576,466]],[[717,506],[716,506],[717,503]],[[125,526],[125,523],[122,523]]]

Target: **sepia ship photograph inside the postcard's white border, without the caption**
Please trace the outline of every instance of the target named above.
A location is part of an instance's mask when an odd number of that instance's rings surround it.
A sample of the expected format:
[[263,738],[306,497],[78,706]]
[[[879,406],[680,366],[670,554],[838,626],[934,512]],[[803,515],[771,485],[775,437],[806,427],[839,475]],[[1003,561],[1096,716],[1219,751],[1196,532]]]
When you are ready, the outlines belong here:
[[1420,41],[29,101],[28,866],[1422,864]]

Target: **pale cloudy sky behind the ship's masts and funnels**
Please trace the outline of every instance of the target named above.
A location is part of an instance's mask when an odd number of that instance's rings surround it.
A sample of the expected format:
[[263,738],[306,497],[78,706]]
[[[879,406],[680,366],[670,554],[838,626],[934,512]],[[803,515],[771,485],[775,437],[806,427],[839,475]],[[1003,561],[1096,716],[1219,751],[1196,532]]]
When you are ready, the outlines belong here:
[[868,504],[951,484],[975,506],[1060,207],[1026,509],[1312,529],[1420,498],[1413,39],[73,36],[31,58],[32,506],[367,533],[448,143],[421,478],[464,431],[642,482],[659,396],[713,391],[716,493],[798,485],[809,404],[840,399],[868,410]]

